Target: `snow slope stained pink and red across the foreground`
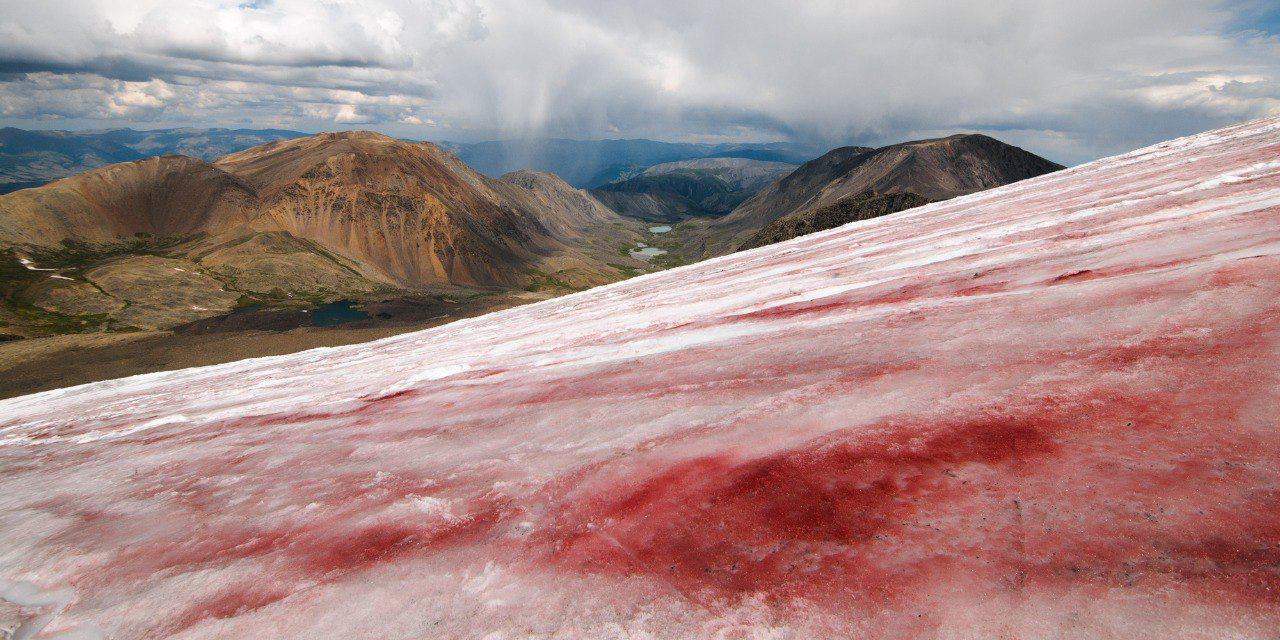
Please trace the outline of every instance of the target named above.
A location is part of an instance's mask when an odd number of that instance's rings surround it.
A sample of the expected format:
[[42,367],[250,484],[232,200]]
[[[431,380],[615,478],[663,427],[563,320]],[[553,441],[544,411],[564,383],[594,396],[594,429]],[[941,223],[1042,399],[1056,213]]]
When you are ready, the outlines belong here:
[[376,343],[0,402],[0,621],[1275,637],[1277,415],[1267,119]]

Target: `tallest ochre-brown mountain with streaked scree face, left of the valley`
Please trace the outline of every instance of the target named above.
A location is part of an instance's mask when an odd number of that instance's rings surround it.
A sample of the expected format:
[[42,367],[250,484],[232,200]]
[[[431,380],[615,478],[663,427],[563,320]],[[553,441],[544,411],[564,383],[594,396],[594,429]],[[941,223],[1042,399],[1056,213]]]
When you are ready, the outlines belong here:
[[588,227],[618,220],[559,206],[562,191],[576,193],[563,182],[524,188],[429,142],[371,132],[274,142],[218,166],[253,187],[268,219],[260,225],[319,242],[370,276],[401,284],[517,285],[547,260],[600,270],[575,241]]

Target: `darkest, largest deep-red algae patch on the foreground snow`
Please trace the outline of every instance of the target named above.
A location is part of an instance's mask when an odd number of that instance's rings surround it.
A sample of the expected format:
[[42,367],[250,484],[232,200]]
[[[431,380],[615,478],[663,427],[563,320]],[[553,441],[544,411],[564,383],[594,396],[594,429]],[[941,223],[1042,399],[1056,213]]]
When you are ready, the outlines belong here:
[[[918,558],[886,564],[884,552],[934,538],[940,508],[992,499],[961,480],[964,467],[1019,475],[1053,453],[1043,425],[991,421],[931,436],[840,434],[759,460],[708,457],[671,466],[616,499],[575,497],[550,561],[579,571],[648,572],[708,600],[884,600],[920,580]],[[993,500],[997,526],[1009,503]],[[589,509],[581,512],[580,509]],[[978,525],[983,517],[964,518]],[[952,521],[955,522],[955,521]],[[585,525],[584,525],[585,524]],[[924,540],[922,540],[924,541]],[[989,561],[988,561],[989,563]]]

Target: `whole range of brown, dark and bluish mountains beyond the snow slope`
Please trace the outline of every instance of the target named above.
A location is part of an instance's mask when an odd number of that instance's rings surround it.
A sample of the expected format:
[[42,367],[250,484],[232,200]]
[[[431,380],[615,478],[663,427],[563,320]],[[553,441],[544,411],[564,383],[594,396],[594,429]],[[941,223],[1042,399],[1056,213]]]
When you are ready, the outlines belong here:
[[[248,136],[55,133],[35,140],[81,163],[138,154],[125,143],[207,150]],[[558,294],[1060,168],[954,136],[842,147],[799,166],[666,161],[584,191],[529,169],[492,178],[429,142],[289,133],[214,161],[150,156],[0,196],[3,333],[168,329],[241,307],[306,310],[433,287]]]

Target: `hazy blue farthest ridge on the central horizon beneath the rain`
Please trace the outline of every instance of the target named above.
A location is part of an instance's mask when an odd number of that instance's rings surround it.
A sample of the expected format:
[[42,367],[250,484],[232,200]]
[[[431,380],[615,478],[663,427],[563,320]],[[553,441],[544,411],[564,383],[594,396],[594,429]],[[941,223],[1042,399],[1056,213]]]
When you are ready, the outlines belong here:
[[498,177],[520,169],[550,172],[577,188],[593,188],[639,175],[663,163],[696,157],[745,157],[800,164],[822,148],[791,142],[684,143],[652,140],[534,140],[475,143],[440,142],[477,172]]

